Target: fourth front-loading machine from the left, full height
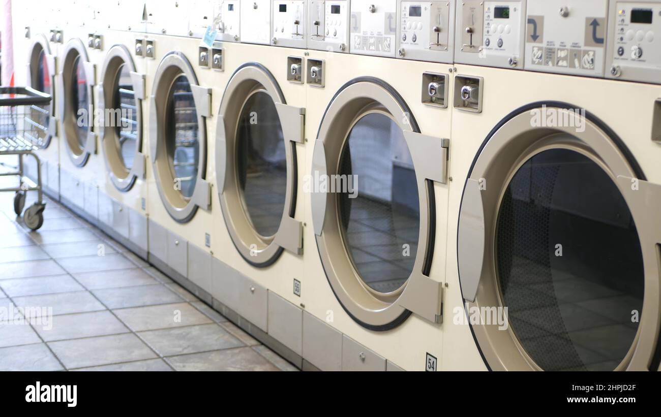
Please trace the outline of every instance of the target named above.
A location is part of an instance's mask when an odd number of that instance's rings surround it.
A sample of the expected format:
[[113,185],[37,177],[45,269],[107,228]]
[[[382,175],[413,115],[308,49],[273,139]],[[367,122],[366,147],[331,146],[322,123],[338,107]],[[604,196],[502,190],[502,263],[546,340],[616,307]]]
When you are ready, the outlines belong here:
[[212,98],[221,94],[222,87],[217,86],[217,71],[210,68],[202,54],[207,49],[201,50],[201,45],[199,38],[187,36],[143,38],[147,74],[143,112],[149,115],[147,217],[149,261],[184,286],[190,280],[204,288],[198,296],[211,303],[215,239],[210,137],[215,127]]

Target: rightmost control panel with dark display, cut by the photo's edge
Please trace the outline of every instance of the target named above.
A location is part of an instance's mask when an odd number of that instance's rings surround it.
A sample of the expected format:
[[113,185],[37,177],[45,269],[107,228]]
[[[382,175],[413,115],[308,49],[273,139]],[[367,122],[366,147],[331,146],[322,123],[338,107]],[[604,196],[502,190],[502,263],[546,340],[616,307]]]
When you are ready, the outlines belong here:
[[611,1],[605,76],[661,84],[661,2]]

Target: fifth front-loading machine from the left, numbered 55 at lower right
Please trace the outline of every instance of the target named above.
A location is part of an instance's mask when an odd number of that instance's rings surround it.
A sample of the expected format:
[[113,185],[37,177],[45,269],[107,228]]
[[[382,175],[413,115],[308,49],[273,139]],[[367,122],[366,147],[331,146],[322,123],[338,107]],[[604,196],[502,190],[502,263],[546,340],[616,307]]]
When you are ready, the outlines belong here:
[[[242,43],[224,44],[227,81],[215,108],[214,190],[214,236],[222,250],[214,255],[212,294],[241,316],[239,325],[268,332],[289,348],[295,355],[280,353],[300,366],[304,2],[273,1],[272,9],[263,3],[256,10],[272,10],[276,46],[243,43],[262,30],[260,18],[242,18]],[[244,8],[242,2],[242,16]],[[299,319],[290,320],[292,314]]]

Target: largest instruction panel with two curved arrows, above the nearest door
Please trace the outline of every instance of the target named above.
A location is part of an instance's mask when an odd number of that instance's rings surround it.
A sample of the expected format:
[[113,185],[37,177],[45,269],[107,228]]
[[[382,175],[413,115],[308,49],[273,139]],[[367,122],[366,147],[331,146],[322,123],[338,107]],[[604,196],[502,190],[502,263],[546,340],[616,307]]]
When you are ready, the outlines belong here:
[[608,0],[528,0],[525,69],[603,77]]

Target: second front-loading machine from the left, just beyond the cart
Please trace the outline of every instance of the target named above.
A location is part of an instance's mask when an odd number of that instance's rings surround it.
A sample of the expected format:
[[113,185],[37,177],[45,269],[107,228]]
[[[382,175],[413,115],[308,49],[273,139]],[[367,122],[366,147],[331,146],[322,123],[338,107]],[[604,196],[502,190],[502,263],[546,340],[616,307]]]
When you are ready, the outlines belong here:
[[[105,174],[98,155],[96,86],[103,63],[103,30],[91,3],[73,1],[63,8],[63,46],[58,59],[60,198],[87,220],[98,220],[98,184]],[[96,123],[95,123],[96,122]]]

